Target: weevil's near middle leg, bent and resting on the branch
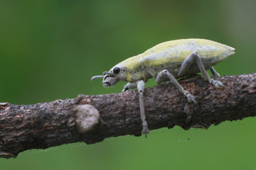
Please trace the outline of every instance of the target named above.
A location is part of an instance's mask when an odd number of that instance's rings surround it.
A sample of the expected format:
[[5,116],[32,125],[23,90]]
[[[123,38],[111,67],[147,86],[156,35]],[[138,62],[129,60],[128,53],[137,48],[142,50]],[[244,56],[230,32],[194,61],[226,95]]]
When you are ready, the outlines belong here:
[[189,91],[184,90],[183,86],[181,86],[181,84],[178,83],[178,81],[174,78],[173,75],[171,75],[170,72],[168,72],[167,69],[164,69],[161,72],[159,72],[159,74],[157,74],[156,83],[160,84],[162,81],[165,80],[166,77],[168,77],[174,83],[178,91],[180,91],[186,96],[188,103],[191,103],[191,102],[196,103],[195,97],[192,96],[192,94],[189,93]]

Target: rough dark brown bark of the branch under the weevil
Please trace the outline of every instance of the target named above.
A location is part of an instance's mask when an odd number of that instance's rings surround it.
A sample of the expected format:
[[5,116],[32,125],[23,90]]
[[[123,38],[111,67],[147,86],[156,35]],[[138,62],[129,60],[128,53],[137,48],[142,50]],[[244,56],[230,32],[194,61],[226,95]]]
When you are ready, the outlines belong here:
[[[197,104],[187,103],[173,84],[147,88],[144,103],[149,129],[175,125],[184,130],[207,129],[225,120],[256,115],[256,73],[216,79],[223,82],[225,89],[215,89],[200,77],[180,81],[196,96]],[[74,108],[84,104],[97,108],[100,121],[81,131]],[[0,157],[5,158],[16,157],[27,149],[46,149],[71,142],[93,144],[121,135],[140,136],[141,130],[136,90],[97,96],[80,94],[78,98],[33,105],[0,103]]]

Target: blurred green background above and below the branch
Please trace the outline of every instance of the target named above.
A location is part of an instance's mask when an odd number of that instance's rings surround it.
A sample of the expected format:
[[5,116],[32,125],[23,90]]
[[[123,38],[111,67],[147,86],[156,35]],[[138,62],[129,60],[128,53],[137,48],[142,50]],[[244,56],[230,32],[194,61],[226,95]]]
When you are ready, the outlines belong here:
[[[0,1],[0,102],[32,104],[110,94],[90,78],[159,42],[206,38],[235,47],[220,74],[256,71],[256,1]],[[148,86],[153,86],[149,81]],[[33,149],[0,169],[255,169],[256,119],[208,130],[152,130]]]

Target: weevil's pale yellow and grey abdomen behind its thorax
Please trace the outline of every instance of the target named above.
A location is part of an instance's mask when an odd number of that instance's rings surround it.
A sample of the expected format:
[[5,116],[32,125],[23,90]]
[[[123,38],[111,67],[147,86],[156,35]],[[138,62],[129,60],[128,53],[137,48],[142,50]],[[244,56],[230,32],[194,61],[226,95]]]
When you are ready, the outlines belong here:
[[[223,45],[218,42],[204,39],[182,39],[162,42],[142,55],[144,57],[144,66],[150,72],[159,72],[162,69],[169,69],[170,72],[175,71],[181,66],[183,60],[192,52],[197,52],[206,69],[208,67],[221,62],[230,55],[233,55],[233,47]],[[155,70],[155,71],[154,71]]]

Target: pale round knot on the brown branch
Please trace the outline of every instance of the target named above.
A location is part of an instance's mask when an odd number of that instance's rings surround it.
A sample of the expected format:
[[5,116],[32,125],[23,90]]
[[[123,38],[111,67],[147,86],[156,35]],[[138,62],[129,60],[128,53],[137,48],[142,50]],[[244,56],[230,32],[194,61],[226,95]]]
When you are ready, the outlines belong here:
[[79,105],[74,109],[75,123],[78,132],[85,133],[92,130],[92,128],[99,123],[100,113],[92,105]]

